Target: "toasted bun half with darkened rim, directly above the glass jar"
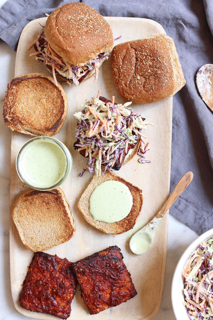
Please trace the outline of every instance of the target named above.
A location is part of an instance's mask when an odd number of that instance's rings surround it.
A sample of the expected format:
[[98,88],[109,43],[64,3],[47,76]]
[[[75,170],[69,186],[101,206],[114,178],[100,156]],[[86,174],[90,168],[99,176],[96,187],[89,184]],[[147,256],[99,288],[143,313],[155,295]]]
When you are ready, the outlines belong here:
[[31,136],[52,136],[63,126],[67,96],[60,84],[40,73],[27,73],[7,85],[3,116],[12,131]]

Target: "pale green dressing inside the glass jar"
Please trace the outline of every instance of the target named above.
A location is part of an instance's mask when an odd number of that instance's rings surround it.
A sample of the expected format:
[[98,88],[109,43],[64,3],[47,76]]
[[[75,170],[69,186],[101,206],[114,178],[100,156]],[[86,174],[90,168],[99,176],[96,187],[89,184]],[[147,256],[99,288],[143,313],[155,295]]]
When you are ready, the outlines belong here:
[[33,185],[48,187],[64,175],[66,156],[56,143],[36,141],[28,146],[22,158],[23,178]]

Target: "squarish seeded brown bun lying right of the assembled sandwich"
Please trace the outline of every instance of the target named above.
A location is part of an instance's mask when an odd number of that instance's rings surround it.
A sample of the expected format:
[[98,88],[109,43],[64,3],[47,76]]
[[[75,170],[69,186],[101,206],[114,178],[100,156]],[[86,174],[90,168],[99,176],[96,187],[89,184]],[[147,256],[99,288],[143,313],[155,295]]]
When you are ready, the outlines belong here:
[[137,103],[169,98],[186,83],[174,41],[164,34],[116,45],[111,70],[118,93]]

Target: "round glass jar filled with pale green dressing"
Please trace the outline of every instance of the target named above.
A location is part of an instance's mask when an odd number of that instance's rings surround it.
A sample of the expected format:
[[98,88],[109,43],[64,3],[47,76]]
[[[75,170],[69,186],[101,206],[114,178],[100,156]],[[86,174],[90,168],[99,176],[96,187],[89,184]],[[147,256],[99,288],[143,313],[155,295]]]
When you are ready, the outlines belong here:
[[35,137],[27,141],[16,158],[19,178],[31,188],[51,190],[68,178],[72,169],[68,148],[52,137]]

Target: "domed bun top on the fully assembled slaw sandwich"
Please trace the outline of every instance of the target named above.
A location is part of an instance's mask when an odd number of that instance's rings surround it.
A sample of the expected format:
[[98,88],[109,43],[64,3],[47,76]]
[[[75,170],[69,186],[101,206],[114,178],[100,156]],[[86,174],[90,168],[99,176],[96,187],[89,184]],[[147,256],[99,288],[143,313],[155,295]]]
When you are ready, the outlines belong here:
[[76,2],[62,5],[49,15],[45,37],[59,56],[75,66],[83,66],[113,46],[110,25],[102,15]]

